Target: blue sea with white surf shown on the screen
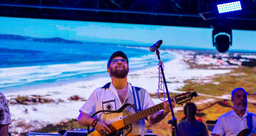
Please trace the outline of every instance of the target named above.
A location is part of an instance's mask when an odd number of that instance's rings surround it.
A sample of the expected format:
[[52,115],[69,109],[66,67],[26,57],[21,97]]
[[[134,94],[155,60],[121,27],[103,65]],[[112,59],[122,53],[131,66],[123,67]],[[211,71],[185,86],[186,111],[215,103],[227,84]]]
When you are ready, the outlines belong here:
[[[157,55],[149,48],[131,45],[0,39],[0,90],[106,73],[108,59],[115,51],[125,52],[132,71],[157,65]],[[175,58],[168,52],[160,57],[163,62]]]

